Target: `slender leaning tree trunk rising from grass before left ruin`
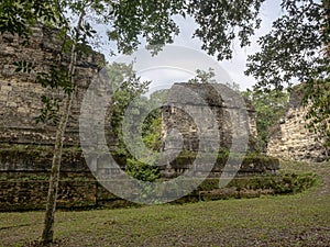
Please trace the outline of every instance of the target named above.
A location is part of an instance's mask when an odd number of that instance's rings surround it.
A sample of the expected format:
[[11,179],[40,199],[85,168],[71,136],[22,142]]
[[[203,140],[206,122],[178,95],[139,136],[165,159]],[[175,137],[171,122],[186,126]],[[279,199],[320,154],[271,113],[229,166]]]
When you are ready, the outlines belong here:
[[56,211],[56,198],[58,192],[58,181],[59,181],[59,170],[61,170],[61,160],[62,160],[62,150],[63,150],[63,142],[65,136],[65,131],[68,122],[68,116],[70,114],[73,98],[76,91],[76,85],[74,79],[76,60],[77,60],[77,41],[80,35],[81,24],[85,16],[85,10],[81,10],[79,15],[79,20],[76,26],[76,36],[74,40],[74,44],[72,47],[72,57],[70,64],[68,68],[68,75],[70,77],[70,82],[73,86],[73,92],[68,93],[65,98],[65,102],[63,105],[63,112],[61,116],[61,121],[56,132],[56,142],[54,147],[54,156],[52,162],[51,178],[50,178],[50,187],[48,187],[48,195],[47,195],[47,204],[46,212],[44,217],[44,228],[42,233],[42,244],[46,245],[53,242],[54,239],[54,220],[55,220],[55,211]]

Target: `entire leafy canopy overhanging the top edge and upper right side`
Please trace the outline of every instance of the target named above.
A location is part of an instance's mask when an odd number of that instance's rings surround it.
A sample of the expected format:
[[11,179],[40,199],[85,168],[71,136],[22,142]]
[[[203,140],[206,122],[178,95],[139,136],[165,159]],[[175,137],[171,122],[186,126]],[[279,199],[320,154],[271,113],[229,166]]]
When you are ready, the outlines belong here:
[[[3,0],[0,3],[0,33],[29,36],[36,22],[68,29],[68,13],[81,9],[98,23],[107,24],[108,38],[120,53],[131,53],[144,41],[147,45],[172,43],[179,33],[175,15],[190,15],[198,24],[195,36],[202,48],[219,60],[232,57],[232,42],[250,45],[260,27],[265,0]],[[256,78],[256,88],[282,90],[295,81],[305,83],[305,103],[310,102],[311,128],[329,137],[330,115],[330,3],[328,0],[282,0],[283,14],[271,32],[260,38],[261,52],[249,56],[246,75]],[[88,44],[96,31],[85,19],[79,44]],[[78,44],[78,45],[79,45]],[[319,132],[320,130],[320,132]],[[329,141],[330,142],[330,141]],[[326,141],[326,143],[329,143]]]

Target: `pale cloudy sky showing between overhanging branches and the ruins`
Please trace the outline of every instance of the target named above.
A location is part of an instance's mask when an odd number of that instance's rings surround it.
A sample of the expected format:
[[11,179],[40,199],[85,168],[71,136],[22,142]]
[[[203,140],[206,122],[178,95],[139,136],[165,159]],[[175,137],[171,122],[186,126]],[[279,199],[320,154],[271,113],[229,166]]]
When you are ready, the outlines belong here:
[[[196,76],[196,69],[208,70],[215,68],[216,79],[219,82],[235,82],[241,90],[251,88],[255,83],[253,77],[244,75],[248,55],[258,50],[257,38],[270,32],[272,23],[282,14],[279,0],[268,0],[262,5],[262,25],[252,37],[251,46],[241,48],[238,41],[232,44],[233,58],[217,61],[216,57],[202,50],[201,42],[193,38],[197,24],[191,18],[176,16],[180,33],[174,38],[174,44],[166,46],[157,56],[151,56],[143,45],[131,56],[107,57],[110,61],[130,63],[135,60],[134,70],[142,80],[153,81],[151,91],[169,88],[174,82],[185,82]],[[103,47],[105,48],[105,47]],[[105,48],[107,50],[107,48]]]

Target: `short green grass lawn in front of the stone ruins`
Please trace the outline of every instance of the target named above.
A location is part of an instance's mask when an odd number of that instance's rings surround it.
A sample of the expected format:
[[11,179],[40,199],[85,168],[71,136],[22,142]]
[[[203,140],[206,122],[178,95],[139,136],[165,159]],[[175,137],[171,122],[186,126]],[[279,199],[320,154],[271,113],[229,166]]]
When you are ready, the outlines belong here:
[[[295,195],[57,212],[53,246],[330,246],[330,162],[283,162],[282,171],[322,181]],[[0,213],[0,246],[34,246],[43,216]]]

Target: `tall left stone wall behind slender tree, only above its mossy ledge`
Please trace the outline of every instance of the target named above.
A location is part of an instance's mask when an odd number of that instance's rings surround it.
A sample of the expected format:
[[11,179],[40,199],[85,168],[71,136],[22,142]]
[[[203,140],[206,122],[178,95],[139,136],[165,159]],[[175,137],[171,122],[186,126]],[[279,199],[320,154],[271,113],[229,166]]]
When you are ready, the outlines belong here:
[[[53,145],[56,127],[50,123],[36,124],[35,117],[43,108],[41,97],[53,96],[62,99],[61,90],[50,90],[35,83],[35,71],[48,71],[61,50],[62,42],[56,30],[35,26],[30,44],[11,34],[0,36],[0,143]],[[15,72],[14,61],[31,61],[35,71]],[[64,64],[69,57],[64,56]],[[75,79],[78,90],[73,102],[66,132],[66,145],[78,145],[78,115],[80,102],[91,78],[97,74],[103,57],[97,53],[79,56]]]

